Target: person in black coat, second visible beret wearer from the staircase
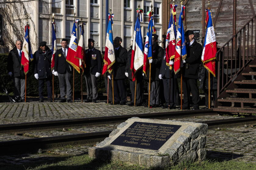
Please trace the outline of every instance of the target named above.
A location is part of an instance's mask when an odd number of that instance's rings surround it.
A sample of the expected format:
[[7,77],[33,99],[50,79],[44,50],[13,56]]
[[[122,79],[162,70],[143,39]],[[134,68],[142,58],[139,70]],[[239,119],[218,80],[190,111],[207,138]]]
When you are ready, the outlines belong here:
[[[161,68],[161,61],[164,56],[164,50],[158,46],[158,35],[152,35],[152,59],[151,63],[151,86],[150,86],[150,106],[159,107],[159,73]],[[144,79],[148,80],[149,87],[149,69]],[[148,106],[147,104],[145,106]]]

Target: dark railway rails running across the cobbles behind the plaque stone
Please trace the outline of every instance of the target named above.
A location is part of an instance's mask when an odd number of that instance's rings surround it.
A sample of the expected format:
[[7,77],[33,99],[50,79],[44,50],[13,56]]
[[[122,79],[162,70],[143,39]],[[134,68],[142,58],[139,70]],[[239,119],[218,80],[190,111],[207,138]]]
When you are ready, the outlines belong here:
[[[51,128],[61,128],[68,126],[81,126],[81,125],[96,125],[96,124],[110,124],[110,123],[118,123],[123,122],[130,117],[141,117],[141,118],[174,118],[174,117],[189,117],[195,115],[211,115],[217,114],[213,112],[211,109],[209,110],[200,110],[200,111],[182,111],[179,113],[159,113],[157,115],[154,114],[140,114],[140,115],[123,115],[123,116],[109,116],[109,117],[93,117],[93,118],[85,118],[85,119],[73,119],[68,124],[64,124],[66,120],[62,121],[49,121],[47,122],[39,122],[41,126],[40,130],[48,129],[47,125],[50,125]],[[91,121],[91,122],[90,122]],[[51,123],[50,123],[51,122]],[[73,122],[73,124],[72,124]],[[16,126],[10,126],[12,128],[10,131],[17,131],[18,127],[23,127],[20,131],[32,131],[34,127],[28,127],[29,125],[36,125],[36,122],[32,123],[24,123],[24,124],[16,124]],[[67,122],[66,122],[67,123]],[[256,116],[252,117],[243,117],[243,118],[231,118],[231,119],[222,119],[222,120],[214,120],[214,121],[202,121],[200,123],[208,124],[208,129],[214,129],[217,127],[236,127],[244,124],[256,124]],[[55,124],[55,125],[54,125]],[[38,124],[37,124],[38,125]],[[26,127],[27,126],[27,127]],[[1,125],[0,133],[7,132],[4,130],[7,128],[6,126]],[[37,127],[38,128],[38,127]],[[35,131],[35,128],[34,128]],[[32,138],[32,139],[23,139],[16,141],[4,141],[0,142],[0,155],[6,154],[16,154],[16,153],[24,153],[24,152],[36,152],[38,149],[46,150],[50,148],[62,147],[67,144],[78,145],[78,144],[87,144],[93,145],[99,141],[104,140],[111,131],[101,131],[101,132],[92,132],[92,133],[82,133],[82,134],[72,134],[72,135],[62,135],[62,136],[53,136],[53,137],[43,137],[43,138]]]

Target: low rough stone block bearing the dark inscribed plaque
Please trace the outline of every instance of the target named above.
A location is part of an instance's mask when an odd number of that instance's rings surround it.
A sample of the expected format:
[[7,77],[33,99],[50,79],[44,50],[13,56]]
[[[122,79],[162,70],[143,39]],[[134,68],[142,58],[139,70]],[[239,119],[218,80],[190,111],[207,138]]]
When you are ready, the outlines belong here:
[[89,148],[89,156],[165,168],[181,161],[203,161],[207,124],[133,117]]

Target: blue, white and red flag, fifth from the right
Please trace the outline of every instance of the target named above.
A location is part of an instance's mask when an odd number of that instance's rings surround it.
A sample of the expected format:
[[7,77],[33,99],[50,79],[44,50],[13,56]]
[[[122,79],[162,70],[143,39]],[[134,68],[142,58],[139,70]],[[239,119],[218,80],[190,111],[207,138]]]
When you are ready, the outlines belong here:
[[140,22],[142,22],[142,9],[137,9],[137,20],[134,27],[133,33],[133,49],[131,55],[131,65],[130,69],[132,70],[132,80],[135,81],[135,73],[143,66],[144,53],[143,53],[143,39],[140,30]]

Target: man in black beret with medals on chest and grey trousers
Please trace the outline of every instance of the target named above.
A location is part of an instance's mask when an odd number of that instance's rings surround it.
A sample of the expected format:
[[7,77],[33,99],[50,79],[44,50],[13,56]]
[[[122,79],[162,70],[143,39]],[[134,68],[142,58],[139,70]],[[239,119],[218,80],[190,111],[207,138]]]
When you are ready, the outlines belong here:
[[94,40],[88,39],[88,48],[86,53],[85,81],[87,87],[86,102],[96,103],[98,97],[97,77],[101,75],[101,52],[94,48]]

